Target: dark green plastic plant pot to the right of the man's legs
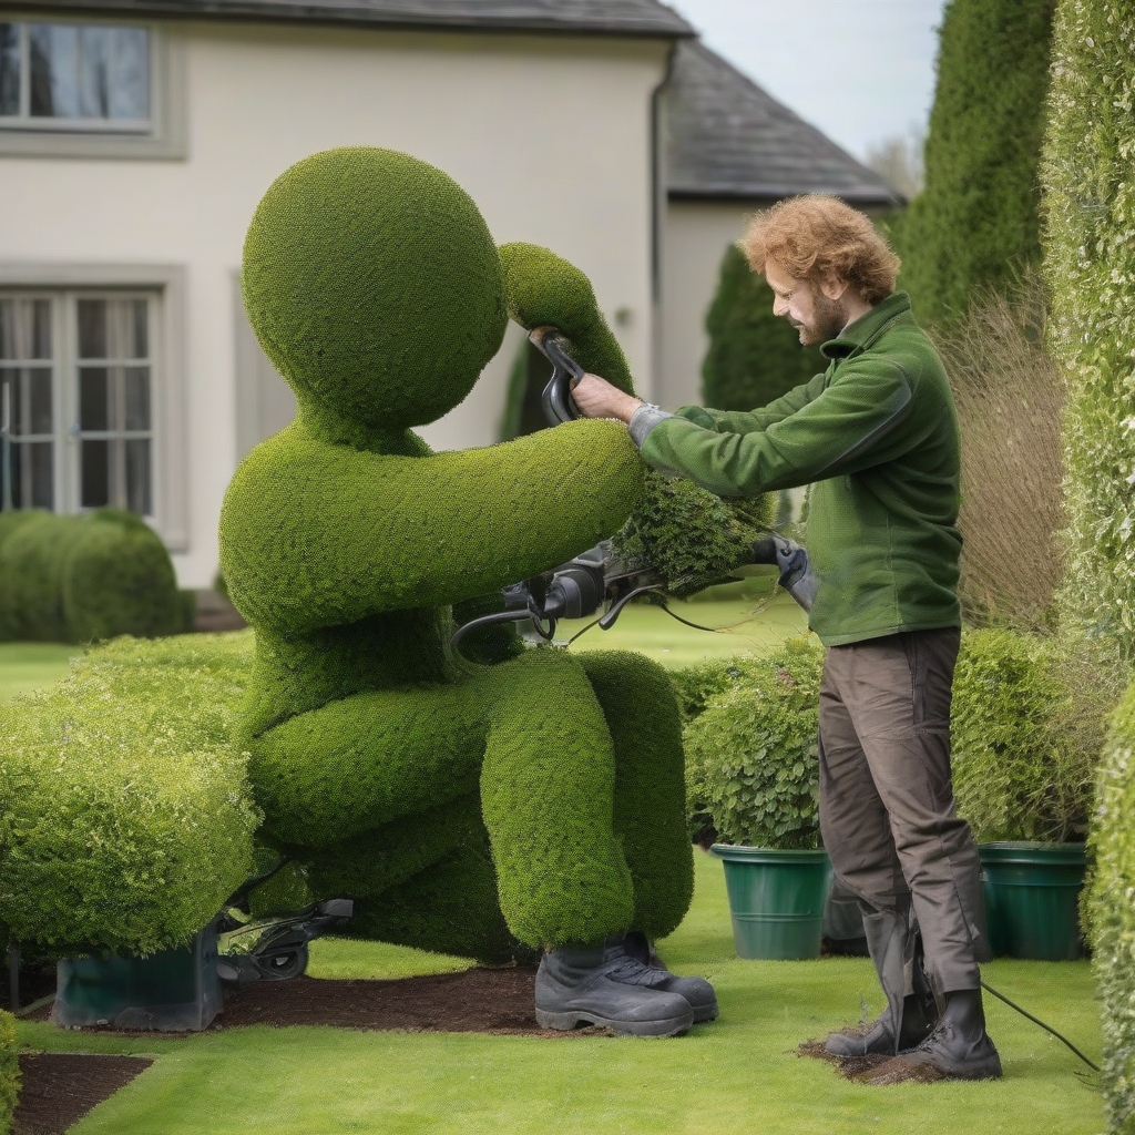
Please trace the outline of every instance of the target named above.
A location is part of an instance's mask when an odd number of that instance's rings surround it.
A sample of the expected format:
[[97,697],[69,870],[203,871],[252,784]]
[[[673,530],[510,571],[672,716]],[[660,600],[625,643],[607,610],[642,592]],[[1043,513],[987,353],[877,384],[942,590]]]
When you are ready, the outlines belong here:
[[982,843],[978,850],[994,955],[1037,961],[1078,958],[1084,844],[1022,841]]

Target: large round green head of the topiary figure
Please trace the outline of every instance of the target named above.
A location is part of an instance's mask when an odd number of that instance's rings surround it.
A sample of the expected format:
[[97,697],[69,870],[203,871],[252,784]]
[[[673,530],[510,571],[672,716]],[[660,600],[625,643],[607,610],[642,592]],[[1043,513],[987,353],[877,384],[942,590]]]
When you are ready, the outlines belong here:
[[327,150],[276,178],[249,226],[242,287],[301,405],[380,429],[457,405],[507,322],[477,205],[393,150]]

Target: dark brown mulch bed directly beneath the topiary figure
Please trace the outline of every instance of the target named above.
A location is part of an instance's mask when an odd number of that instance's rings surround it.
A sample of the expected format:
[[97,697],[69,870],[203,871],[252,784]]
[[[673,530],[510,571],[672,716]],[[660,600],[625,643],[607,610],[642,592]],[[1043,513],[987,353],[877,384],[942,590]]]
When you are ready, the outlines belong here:
[[[544,1037],[594,1036],[608,1032],[580,1028],[568,1034],[540,1028],[536,1024],[535,997],[536,970],[513,967],[473,968],[385,982],[295,977],[288,982],[257,982],[239,992],[227,992],[225,1011],[210,1028],[333,1025],[336,1028]],[[49,1011],[49,1007],[43,1006],[30,1017],[44,1020]]]

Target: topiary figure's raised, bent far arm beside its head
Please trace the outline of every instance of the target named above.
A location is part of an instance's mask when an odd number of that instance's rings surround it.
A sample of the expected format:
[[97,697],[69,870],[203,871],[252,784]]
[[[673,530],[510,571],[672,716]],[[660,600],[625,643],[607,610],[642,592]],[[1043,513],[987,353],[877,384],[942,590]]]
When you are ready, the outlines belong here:
[[501,246],[508,314],[521,327],[557,327],[572,358],[627,394],[634,381],[622,347],[599,311],[591,281],[574,264],[538,244]]

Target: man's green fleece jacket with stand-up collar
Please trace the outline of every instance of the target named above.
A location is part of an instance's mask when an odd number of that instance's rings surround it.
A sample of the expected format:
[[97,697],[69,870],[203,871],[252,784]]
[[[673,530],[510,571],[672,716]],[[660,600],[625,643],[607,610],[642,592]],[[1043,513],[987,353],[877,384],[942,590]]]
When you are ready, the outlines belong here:
[[810,625],[825,646],[960,625],[958,418],[909,296],[821,351],[827,370],[763,410],[686,406],[645,438],[632,423],[642,457],[723,497],[813,486]]

